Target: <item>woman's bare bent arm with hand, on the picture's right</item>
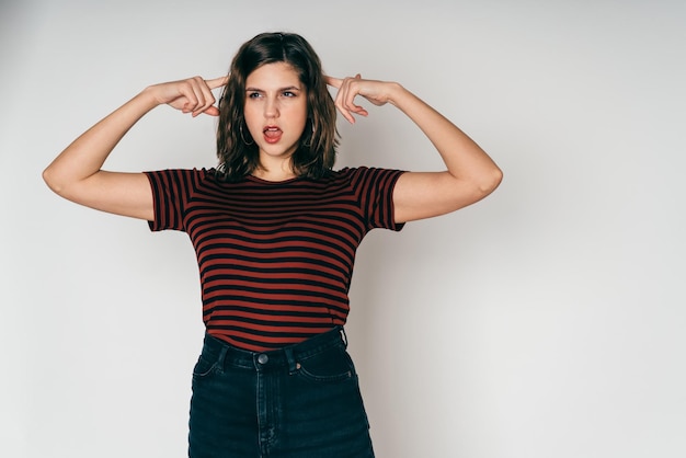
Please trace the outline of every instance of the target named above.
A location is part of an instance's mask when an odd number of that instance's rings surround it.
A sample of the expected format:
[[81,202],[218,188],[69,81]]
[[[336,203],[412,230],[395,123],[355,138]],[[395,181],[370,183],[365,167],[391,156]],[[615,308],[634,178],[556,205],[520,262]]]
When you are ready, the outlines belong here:
[[375,105],[390,103],[402,111],[434,145],[447,170],[403,173],[393,190],[396,222],[431,218],[455,211],[491,194],[502,180],[493,160],[462,130],[416,95],[396,82],[355,78],[327,78],[336,88],[335,105],[355,123],[353,115],[367,116],[356,105],[362,95]]

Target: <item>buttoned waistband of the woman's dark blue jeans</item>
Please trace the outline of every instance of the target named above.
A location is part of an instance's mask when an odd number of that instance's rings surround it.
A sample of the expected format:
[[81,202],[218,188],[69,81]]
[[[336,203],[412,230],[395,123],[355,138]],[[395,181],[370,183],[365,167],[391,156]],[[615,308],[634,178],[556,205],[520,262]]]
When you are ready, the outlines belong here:
[[225,367],[233,366],[258,371],[288,367],[293,371],[298,359],[311,357],[335,346],[343,348],[347,346],[343,327],[335,327],[295,345],[266,352],[241,350],[206,333],[203,356],[221,362]]

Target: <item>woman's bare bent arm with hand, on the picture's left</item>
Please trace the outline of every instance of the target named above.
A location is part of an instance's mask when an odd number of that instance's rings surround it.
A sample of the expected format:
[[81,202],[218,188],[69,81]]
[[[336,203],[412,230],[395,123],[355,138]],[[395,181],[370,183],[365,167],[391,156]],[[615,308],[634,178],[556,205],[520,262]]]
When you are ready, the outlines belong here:
[[47,169],[43,179],[58,195],[91,208],[146,220],[153,219],[152,192],[142,173],[102,170],[126,133],[158,105],[197,116],[219,114],[211,90],[227,77],[205,81],[199,77],[151,85],[83,133]]

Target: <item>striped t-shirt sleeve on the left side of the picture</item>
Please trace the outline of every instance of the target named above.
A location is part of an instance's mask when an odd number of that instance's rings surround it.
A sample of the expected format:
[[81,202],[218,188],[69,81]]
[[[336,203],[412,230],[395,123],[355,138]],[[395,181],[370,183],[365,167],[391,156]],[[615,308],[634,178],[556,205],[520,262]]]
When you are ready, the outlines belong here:
[[145,172],[152,188],[155,210],[155,219],[148,221],[150,230],[185,229],[184,210],[203,173],[196,169]]

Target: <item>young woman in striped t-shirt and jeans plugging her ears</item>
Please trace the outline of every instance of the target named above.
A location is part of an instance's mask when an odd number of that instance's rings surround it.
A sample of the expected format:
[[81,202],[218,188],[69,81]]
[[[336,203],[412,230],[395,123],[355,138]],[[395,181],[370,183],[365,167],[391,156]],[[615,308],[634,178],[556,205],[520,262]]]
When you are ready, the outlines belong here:
[[[215,106],[211,91],[221,87]],[[446,170],[334,171],[336,107],[355,123],[368,114],[357,96],[401,110]],[[102,170],[127,130],[162,104],[219,117],[219,165]],[[207,330],[193,371],[194,458],[374,456],[343,333],[355,250],[370,229],[457,210],[501,176],[477,144],[402,85],[324,76],[310,45],[287,33],[243,44],[227,77],[145,89],[44,172],[65,198],[191,237]]]

